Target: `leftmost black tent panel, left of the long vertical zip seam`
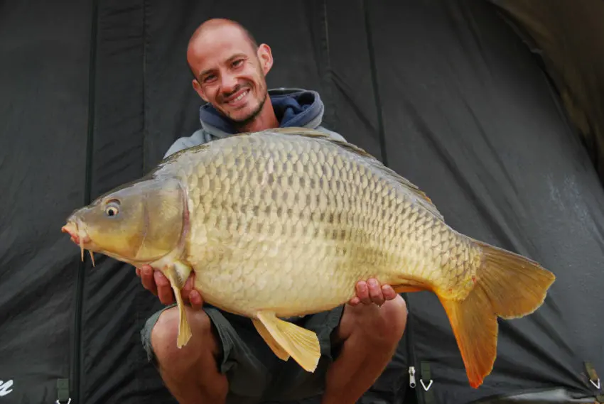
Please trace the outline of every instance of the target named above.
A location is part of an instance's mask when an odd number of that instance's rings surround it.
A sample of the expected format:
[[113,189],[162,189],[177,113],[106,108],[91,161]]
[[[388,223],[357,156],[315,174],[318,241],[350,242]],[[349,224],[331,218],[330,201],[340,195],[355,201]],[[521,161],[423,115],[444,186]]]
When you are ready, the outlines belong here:
[[91,6],[0,4],[0,401],[54,403],[72,378],[79,254],[60,232],[85,202]]

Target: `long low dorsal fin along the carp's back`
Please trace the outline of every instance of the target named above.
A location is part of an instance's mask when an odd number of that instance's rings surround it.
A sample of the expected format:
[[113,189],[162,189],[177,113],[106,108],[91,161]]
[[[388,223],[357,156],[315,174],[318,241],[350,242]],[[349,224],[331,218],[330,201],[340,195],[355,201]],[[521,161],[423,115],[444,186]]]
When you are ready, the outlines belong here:
[[[290,127],[290,128],[275,128],[275,129],[266,129],[264,131],[259,131],[255,133],[245,133],[245,134],[288,134],[293,136],[303,136],[309,138],[320,138],[325,141],[329,141],[335,145],[338,145],[342,148],[345,148],[347,151],[360,155],[362,158],[369,160],[373,167],[382,170],[384,174],[389,175],[390,178],[393,178],[399,184],[403,185],[407,190],[409,190],[414,195],[418,196],[418,202],[426,209],[428,212],[437,217],[441,222],[444,222],[445,219],[441,212],[438,212],[438,208],[433,204],[432,200],[426,195],[422,190],[419,189],[417,185],[413,182],[407,180],[402,175],[392,170],[392,168],[387,167],[378,160],[374,155],[367,153],[364,149],[359,146],[355,146],[352,143],[347,143],[346,141],[340,141],[338,139],[332,138],[329,136],[329,133],[325,133],[322,131],[318,131],[316,129],[308,129],[308,128],[298,128],[298,127]],[[240,133],[244,134],[244,133]]]

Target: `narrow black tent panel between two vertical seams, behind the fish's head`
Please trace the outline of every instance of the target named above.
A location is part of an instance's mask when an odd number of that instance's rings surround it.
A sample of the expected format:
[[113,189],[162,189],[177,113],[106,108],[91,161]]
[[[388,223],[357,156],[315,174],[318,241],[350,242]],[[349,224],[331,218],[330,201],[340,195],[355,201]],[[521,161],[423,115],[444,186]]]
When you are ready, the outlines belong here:
[[[143,0],[99,1],[92,199],[146,172],[145,13]],[[102,255],[97,255],[95,268],[86,261],[79,319],[80,402],[168,403],[171,396],[157,372],[146,365],[139,334],[146,317],[161,303],[141,288],[132,266]]]

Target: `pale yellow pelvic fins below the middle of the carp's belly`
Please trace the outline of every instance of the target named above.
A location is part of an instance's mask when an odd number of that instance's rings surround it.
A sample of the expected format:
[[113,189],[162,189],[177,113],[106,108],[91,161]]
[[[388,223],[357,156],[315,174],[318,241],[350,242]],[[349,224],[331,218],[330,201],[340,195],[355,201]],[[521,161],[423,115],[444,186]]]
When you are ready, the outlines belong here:
[[267,338],[266,333],[259,330],[260,335],[280,359],[284,359],[287,353],[304,370],[315,371],[321,356],[317,334],[281,320],[273,312],[258,312],[257,317],[271,338]]

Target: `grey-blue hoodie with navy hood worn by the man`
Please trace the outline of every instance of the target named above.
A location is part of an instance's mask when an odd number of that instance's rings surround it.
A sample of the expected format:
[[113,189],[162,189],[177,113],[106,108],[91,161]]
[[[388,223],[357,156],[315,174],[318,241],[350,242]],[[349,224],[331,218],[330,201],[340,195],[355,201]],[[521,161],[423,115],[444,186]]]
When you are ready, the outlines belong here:
[[[325,107],[318,92],[305,89],[269,89],[269,97],[281,128],[298,126],[328,133],[331,137],[345,141],[339,133],[329,131],[321,125]],[[178,138],[164,157],[193,146],[235,133],[229,119],[222,116],[211,104],[199,109],[201,129],[191,136]]]

